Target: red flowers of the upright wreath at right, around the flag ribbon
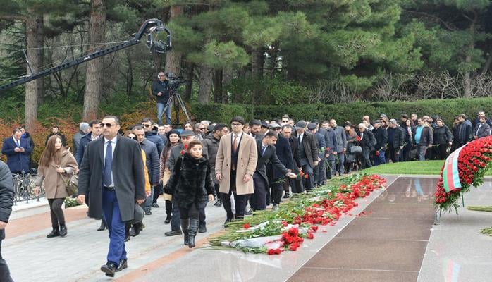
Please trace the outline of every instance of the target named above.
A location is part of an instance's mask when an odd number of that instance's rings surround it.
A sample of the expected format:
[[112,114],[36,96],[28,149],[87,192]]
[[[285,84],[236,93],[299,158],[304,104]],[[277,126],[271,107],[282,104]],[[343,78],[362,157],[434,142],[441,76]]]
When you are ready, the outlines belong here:
[[457,210],[460,196],[469,191],[471,185],[479,187],[484,183],[487,164],[492,159],[492,136],[479,138],[462,147],[457,158],[457,168],[462,188],[446,192],[443,183],[443,168],[438,180],[435,204],[442,211]]

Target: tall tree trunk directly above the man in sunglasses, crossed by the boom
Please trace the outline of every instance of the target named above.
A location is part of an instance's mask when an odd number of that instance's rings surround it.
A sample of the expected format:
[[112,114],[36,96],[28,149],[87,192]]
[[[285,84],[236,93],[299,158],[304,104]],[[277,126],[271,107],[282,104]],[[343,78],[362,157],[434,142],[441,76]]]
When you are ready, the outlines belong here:
[[[89,20],[89,43],[104,42],[106,11],[103,0],[92,0]],[[82,119],[90,121],[97,117],[104,78],[104,57],[87,62],[85,72],[84,111]]]

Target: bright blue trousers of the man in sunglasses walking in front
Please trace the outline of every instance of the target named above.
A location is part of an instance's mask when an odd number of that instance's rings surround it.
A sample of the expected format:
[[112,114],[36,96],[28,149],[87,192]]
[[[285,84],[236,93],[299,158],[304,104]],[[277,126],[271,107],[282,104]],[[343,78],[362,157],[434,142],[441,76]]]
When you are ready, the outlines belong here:
[[108,224],[108,262],[116,265],[127,259],[125,250],[125,222],[121,221],[120,205],[115,191],[102,190],[102,211]]

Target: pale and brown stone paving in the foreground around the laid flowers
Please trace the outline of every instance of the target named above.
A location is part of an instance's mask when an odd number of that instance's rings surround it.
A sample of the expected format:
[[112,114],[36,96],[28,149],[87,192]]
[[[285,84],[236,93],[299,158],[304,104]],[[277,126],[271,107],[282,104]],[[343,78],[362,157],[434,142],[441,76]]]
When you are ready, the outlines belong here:
[[[417,179],[419,181],[416,181]],[[128,269],[116,274],[114,279],[104,276],[99,271],[99,267],[106,261],[109,245],[107,231],[96,231],[99,221],[87,219],[85,207],[65,209],[68,218],[66,238],[45,237],[51,229],[49,214],[36,212],[39,211],[39,207],[36,211],[33,209],[31,212],[23,212],[23,217],[11,220],[7,226],[7,238],[2,243],[2,255],[11,268],[14,281],[20,282],[276,282],[289,279],[290,281],[317,281],[317,278],[320,278],[319,274],[331,266],[327,267],[326,264],[316,266],[316,257],[324,261],[329,259],[333,261],[335,257],[339,262],[346,262],[348,265],[356,262],[361,254],[366,256],[366,260],[369,257],[374,261],[386,263],[388,268],[393,267],[398,270],[400,267],[399,270],[402,271],[393,271],[392,274],[402,281],[417,281],[417,274],[418,281],[491,281],[488,278],[491,277],[492,263],[487,258],[490,257],[488,254],[491,250],[492,238],[478,232],[480,228],[492,225],[492,213],[468,212],[463,209],[459,216],[443,215],[441,225],[432,226],[429,216],[433,216],[433,210],[429,209],[429,205],[432,202],[435,182],[435,178],[388,176],[387,191],[374,192],[371,196],[360,199],[359,207],[352,210],[353,216],[342,216],[335,226],[323,226],[326,232],[318,231],[315,239],[305,242],[297,252],[284,252],[282,255],[252,255],[234,250],[207,248],[190,250],[182,245],[181,236],[171,238],[164,236],[164,232],[168,231],[170,226],[164,225],[164,202],[161,200],[159,200],[161,208],[154,208],[152,210],[154,214],[144,219],[146,226],[144,231],[127,243]],[[393,185],[390,185],[392,183]],[[484,186],[484,188],[473,189],[469,195],[465,195],[465,204],[491,205],[491,182],[487,181]],[[397,204],[409,207],[398,212],[394,209],[398,207]],[[419,209],[417,206],[424,209]],[[364,217],[355,216],[364,209],[372,213],[367,212],[367,216]],[[47,210],[48,207],[45,206],[44,211]],[[405,219],[405,216],[398,216],[398,214],[414,216]],[[197,236],[199,245],[206,243],[207,236],[212,233],[223,231],[223,220],[223,209],[209,204],[207,207],[209,232]],[[400,227],[406,231],[402,232]],[[364,242],[362,244],[357,244],[364,235],[369,239],[362,240]],[[337,243],[342,240],[349,242],[349,239],[352,239],[350,244],[346,245],[349,247],[336,248]],[[378,243],[379,247],[376,244],[375,248],[374,246],[371,248],[368,243],[370,240]],[[412,244],[409,243],[412,240],[418,242],[420,246],[417,248],[419,251],[415,252],[417,257],[409,255],[406,251],[412,250],[411,246],[410,249],[401,247],[405,243]],[[383,249],[379,250],[381,247]],[[367,251],[365,254],[364,250]],[[376,256],[371,257],[372,254]],[[384,260],[385,254],[394,259],[386,257]],[[359,261],[364,262],[364,259]],[[398,262],[400,266],[396,267],[392,262]],[[386,281],[379,278],[381,276],[372,275],[374,272],[368,271],[374,270],[374,267],[356,269],[360,273],[367,271],[368,275],[362,276],[365,279],[361,279],[351,275],[355,273],[354,265],[339,266],[337,266],[338,270],[331,270],[332,274],[336,273],[337,276],[323,277],[331,277],[335,279],[333,281]],[[314,270],[310,271],[312,275],[300,276],[300,274],[307,274],[309,271],[306,272],[305,269],[309,267]],[[348,268],[352,270],[349,271]]]

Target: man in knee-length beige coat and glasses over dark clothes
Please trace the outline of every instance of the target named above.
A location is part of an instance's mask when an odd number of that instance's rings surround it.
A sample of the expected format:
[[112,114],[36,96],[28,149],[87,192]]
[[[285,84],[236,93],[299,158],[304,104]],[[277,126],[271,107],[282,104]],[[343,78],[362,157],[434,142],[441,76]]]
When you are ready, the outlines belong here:
[[221,137],[215,161],[219,194],[227,212],[224,224],[233,219],[230,195],[235,199],[235,218],[244,218],[247,200],[254,192],[252,176],[258,159],[254,138],[242,132],[244,118],[236,116],[230,121],[230,125],[232,133]]

